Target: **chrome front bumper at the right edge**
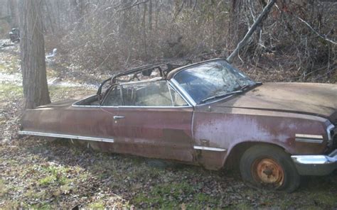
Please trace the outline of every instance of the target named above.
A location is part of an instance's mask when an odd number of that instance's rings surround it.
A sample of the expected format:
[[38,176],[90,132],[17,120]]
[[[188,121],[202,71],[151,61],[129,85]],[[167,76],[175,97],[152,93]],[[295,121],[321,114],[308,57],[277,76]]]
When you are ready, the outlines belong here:
[[337,150],[329,155],[291,155],[300,175],[328,175],[337,169]]

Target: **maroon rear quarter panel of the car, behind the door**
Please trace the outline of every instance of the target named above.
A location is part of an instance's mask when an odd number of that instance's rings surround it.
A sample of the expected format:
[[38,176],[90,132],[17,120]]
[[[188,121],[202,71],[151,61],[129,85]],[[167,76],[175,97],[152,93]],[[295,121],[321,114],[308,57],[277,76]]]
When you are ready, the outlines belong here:
[[74,136],[114,138],[111,116],[100,107],[71,106],[39,107],[23,114],[22,131],[59,133]]

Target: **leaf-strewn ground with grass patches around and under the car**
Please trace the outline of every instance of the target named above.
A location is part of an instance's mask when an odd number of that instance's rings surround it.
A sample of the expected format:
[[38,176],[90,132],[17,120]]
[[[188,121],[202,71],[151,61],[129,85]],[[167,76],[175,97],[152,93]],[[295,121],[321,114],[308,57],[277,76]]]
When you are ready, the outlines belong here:
[[[291,194],[267,192],[245,186],[234,171],[100,153],[65,139],[20,137],[18,63],[17,47],[0,49],[0,209],[337,209],[336,172],[303,177]],[[95,84],[60,80],[59,73],[48,67],[52,101],[95,92]]]

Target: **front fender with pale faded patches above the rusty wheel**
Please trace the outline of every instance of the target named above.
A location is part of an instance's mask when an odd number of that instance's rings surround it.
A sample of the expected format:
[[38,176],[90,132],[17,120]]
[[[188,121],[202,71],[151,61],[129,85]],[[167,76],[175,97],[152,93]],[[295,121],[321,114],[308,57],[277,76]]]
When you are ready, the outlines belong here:
[[[197,145],[209,142],[212,148],[225,148],[225,152],[209,152],[225,158],[218,161],[204,160],[208,168],[223,167],[232,148],[239,143],[271,143],[290,154],[319,154],[326,148],[322,144],[296,143],[296,133],[326,135],[326,119],[304,114],[277,111],[232,109],[212,105],[196,106],[193,117],[193,134]],[[220,154],[223,153],[223,154]],[[211,155],[210,155],[211,156]]]

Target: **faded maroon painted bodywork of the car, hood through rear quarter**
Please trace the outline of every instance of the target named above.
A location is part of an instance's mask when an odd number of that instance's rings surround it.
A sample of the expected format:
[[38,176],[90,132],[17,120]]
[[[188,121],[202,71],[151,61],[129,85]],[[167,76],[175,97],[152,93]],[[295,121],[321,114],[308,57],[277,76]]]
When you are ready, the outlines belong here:
[[[23,131],[113,138],[96,148],[114,153],[180,160],[223,167],[239,143],[271,143],[291,155],[322,154],[328,119],[336,124],[337,86],[267,83],[229,99],[193,108],[71,106],[73,101],[27,110]],[[125,116],[115,120],[113,116]],[[300,143],[295,134],[323,136],[323,143]],[[193,150],[193,145],[225,152]]]

